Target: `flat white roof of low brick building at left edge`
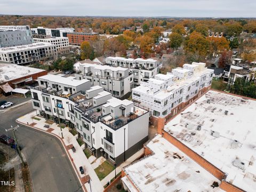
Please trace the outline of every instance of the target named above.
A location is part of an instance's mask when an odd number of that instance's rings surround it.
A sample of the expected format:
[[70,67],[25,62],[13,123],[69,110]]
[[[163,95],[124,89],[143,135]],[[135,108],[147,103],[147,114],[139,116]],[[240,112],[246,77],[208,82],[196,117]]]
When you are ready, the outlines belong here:
[[33,75],[45,71],[32,67],[25,67],[15,64],[1,64],[0,66],[0,82],[8,82],[28,75]]

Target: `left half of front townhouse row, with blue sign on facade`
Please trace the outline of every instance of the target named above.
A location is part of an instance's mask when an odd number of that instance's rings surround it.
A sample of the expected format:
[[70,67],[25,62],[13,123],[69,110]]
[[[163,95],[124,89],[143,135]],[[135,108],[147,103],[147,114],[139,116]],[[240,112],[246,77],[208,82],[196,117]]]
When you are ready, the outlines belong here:
[[90,81],[51,74],[38,77],[37,80],[39,85],[30,89],[33,108],[46,119],[58,123],[60,117],[61,123],[74,128],[75,124],[70,121],[71,114],[74,114],[76,102],[85,98],[85,91],[91,86]]

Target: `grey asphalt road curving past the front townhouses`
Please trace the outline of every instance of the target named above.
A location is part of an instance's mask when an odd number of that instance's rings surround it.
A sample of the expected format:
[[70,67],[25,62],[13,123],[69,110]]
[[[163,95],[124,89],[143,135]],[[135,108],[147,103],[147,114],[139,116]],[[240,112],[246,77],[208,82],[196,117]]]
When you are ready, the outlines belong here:
[[[32,110],[31,103],[27,103],[1,113],[0,134],[5,134],[11,125],[16,126],[15,120]],[[80,183],[60,141],[47,133],[19,126],[16,136],[28,161],[33,191],[76,191]]]

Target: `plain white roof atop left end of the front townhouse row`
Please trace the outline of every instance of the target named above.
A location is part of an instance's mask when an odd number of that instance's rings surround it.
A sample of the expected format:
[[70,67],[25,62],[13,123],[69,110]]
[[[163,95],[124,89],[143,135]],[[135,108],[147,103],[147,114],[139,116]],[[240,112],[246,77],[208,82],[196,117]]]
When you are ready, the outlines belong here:
[[60,84],[65,84],[65,85],[70,85],[70,86],[78,86],[78,85],[82,85],[86,82],[90,82],[90,80],[87,80],[87,79],[77,80],[77,79],[75,79],[75,77],[72,77],[72,76],[63,77],[60,75],[52,75],[52,74],[44,75],[44,76],[41,76],[38,78],[44,79],[47,81],[51,81],[54,83],[60,83]]

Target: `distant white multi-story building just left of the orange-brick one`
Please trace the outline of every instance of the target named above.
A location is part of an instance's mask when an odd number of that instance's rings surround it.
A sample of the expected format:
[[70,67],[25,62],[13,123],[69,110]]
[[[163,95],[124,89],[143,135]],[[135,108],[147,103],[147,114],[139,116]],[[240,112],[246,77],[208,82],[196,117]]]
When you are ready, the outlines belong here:
[[58,53],[66,53],[69,51],[68,37],[34,38],[34,42],[51,43],[53,45],[56,45]]

